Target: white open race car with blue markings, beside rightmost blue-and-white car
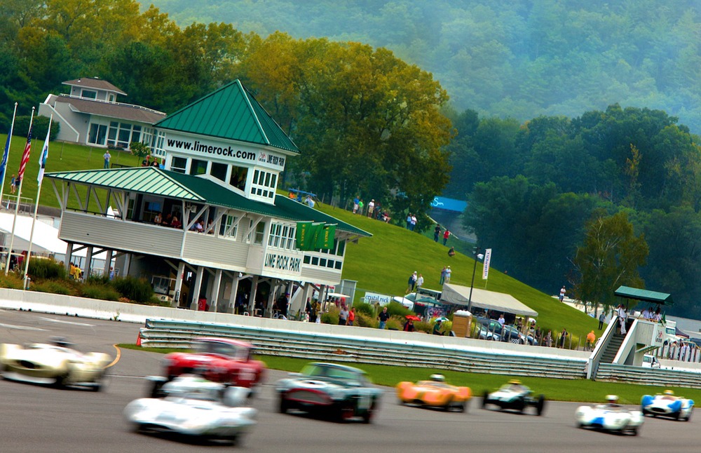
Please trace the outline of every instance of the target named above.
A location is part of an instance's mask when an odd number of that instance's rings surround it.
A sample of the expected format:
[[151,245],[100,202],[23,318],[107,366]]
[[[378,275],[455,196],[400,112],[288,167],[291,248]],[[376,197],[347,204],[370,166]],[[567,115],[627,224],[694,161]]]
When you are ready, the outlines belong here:
[[607,395],[608,403],[580,406],[575,412],[578,428],[597,428],[615,433],[638,435],[644,416],[639,410],[625,410],[618,405],[618,396]]

